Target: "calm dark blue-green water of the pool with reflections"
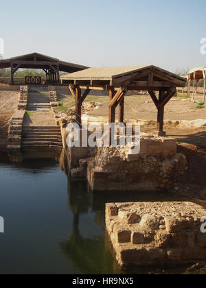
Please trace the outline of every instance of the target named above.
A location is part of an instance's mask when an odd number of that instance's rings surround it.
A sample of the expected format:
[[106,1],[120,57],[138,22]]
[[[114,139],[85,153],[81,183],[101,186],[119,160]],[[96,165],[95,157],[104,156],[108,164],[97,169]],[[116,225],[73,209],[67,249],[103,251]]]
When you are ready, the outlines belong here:
[[59,154],[43,154],[13,163],[1,152],[0,274],[129,273],[117,267],[111,252],[105,203],[183,199],[165,193],[91,193],[86,182],[71,182],[60,162]]

